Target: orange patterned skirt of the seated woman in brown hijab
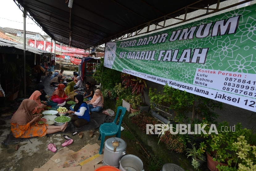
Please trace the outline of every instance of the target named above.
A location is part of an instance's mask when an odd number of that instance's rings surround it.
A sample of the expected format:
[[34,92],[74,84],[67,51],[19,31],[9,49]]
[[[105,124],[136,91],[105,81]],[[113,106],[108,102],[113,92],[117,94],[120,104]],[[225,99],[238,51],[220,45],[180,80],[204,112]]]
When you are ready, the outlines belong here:
[[43,137],[47,133],[47,124],[18,125],[11,123],[11,132],[15,138]]

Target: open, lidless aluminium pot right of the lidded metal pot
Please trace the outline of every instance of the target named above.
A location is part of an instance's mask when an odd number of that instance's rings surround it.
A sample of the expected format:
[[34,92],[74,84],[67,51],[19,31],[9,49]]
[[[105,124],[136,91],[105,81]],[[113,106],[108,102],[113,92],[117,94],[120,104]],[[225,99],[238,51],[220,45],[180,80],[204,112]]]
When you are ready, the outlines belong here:
[[143,163],[140,160],[140,158],[132,154],[128,154],[122,157],[119,163],[120,163],[119,169],[122,171],[127,171],[127,170],[145,171],[143,168]]

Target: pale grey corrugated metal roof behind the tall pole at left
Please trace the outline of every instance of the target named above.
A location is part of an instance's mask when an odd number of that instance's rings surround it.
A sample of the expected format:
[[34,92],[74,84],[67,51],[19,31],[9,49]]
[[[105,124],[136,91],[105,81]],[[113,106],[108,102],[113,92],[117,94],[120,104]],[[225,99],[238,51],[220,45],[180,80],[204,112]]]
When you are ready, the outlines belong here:
[[[0,38],[0,46],[15,47],[23,50],[23,44]],[[49,52],[26,45],[26,50],[35,54],[49,54]]]

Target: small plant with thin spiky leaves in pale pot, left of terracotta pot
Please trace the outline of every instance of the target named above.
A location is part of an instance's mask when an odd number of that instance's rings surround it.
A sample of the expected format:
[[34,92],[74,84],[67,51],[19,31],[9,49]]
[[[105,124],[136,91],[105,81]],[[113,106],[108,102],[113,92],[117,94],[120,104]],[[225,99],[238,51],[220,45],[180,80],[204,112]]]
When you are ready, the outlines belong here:
[[200,168],[203,163],[205,162],[205,157],[203,155],[203,153],[205,152],[204,149],[206,148],[206,144],[204,144],[204,142],[200,143],[200,147],[198,149],[196,149],[196,147],[194,146],[195,144],[191,144],[192,145],[192,149],[185,149],[187,152],[187,156],[191,156],[191,161],[192,161],[192,166],[194,166],[195,169],[198,170],[198,168]]

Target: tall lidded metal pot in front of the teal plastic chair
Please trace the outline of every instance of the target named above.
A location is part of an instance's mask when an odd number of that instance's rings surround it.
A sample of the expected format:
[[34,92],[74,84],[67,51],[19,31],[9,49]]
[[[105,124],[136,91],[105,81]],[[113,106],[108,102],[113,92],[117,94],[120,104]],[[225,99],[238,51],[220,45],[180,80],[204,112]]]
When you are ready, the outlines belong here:
[[[113,143],[118,142],[116,150],[114,150]],[[126,154],[126,142],[121,138],[112,137],[105,141],[103,165],[114,166],[119,168],[120,158]]]

